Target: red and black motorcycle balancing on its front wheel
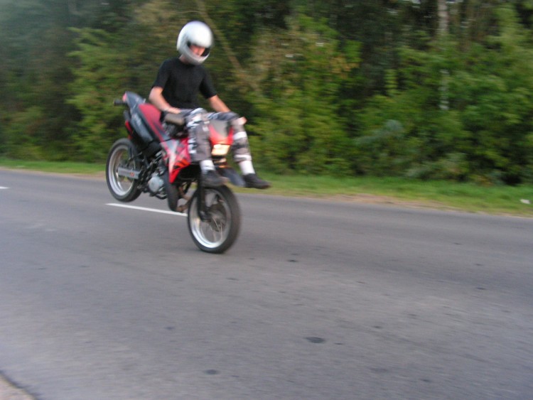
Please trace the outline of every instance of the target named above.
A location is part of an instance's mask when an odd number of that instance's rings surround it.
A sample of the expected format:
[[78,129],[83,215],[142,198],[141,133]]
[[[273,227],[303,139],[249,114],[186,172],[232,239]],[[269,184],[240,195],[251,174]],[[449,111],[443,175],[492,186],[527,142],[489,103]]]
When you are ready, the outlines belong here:
[[[220,254],[229,249],[241,224],[237,198],[227,185],[203,185],[200,167],[191,163],[183,116],[166,114],[161,121],[161,112],[134,92],[125,92],[114,105],[126,108],[128,137],[115,141],[107,156],[107,187],[113,197],[131,202],[141,193],[149,193],[166,199],[172,211],[187,212],[190,236],[200,250]],[[226,158],[232,145],[232,125],[217,119],[206,124],[217,172],[233,185],[244,186]]]

